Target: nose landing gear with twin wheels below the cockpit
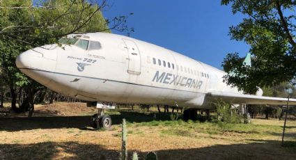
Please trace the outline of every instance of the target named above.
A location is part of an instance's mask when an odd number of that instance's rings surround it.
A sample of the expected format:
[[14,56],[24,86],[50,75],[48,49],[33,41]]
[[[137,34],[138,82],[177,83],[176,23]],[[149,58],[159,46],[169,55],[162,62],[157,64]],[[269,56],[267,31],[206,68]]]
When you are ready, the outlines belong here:
[[110,115],[104,115],[104,109],[98,109],[98,114],[91,116],[91,127],[109,129],[112,125]]

